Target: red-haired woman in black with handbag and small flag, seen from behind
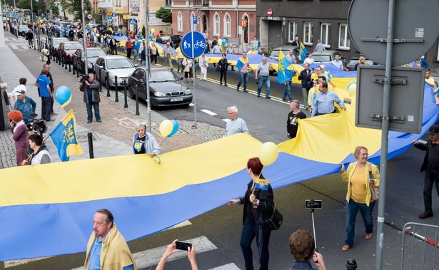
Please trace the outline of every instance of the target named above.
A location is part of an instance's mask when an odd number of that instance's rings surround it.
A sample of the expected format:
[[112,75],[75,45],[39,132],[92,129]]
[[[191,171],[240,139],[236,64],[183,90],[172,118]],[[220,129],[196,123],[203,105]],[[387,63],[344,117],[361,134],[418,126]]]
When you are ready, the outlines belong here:
[[[252,157],[247,162],[247,172],[251,180],[247,184],[244,197],[231,199],[228,205],[244,204],[243,231],[241,233],[241,249],[243,251],[246,270],[253,269],[253,252],[251,243],[256,237],[256,246],[259,251],[260,270],[268,269],[268,242],[270,242],[271,229],[265,222],[273,213],[273,189],[268,184],[264,187],[258,185],[259,180],[265,179],[261,174],[263,165],[259,157]],[[261,188],[258,188],[258,187]]]

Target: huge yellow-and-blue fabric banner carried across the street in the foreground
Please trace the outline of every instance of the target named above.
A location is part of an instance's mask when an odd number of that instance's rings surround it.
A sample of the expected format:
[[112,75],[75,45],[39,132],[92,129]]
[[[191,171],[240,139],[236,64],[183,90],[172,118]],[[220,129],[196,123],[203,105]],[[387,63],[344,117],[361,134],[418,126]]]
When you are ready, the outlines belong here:
[[[350,97],[356,73],[330,72],[335,92]],[[370,162],[380,162],[380,130],[355,127],[352,100],[346,111],[301,120],[297,137],[278,145],[278,159],[263,170],[273,189],[339,172],[340,163],[355,161],[358,145],[368,147]],[[412,147],[438,112],[425,85],[422,133],[390,132],[388,157]],[[0,261],[85,251],[96,209],[113,212],[130,241],[227,204],[246,191],[246,162],[261,145],[236,134],[164,153],[161,164],[148,155],[126,155],[0,170]]]

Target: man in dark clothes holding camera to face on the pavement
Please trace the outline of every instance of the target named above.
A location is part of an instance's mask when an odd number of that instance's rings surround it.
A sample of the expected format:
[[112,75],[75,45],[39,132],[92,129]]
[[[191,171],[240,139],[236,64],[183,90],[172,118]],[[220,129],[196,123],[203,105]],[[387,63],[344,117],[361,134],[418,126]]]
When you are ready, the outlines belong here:
[[99,82],[94,80],[94,74],[89,73],[88,76],[81,78],[81,85],[79,90],[84,92],[84,102],[87,108],[87,123],[91,123],[93,120],[93,112],[91,107],[94,108],[94,117],[96,121],[101,123],[101,115],[99,115],[99,103],[101,102],[101,96],[99,95]]

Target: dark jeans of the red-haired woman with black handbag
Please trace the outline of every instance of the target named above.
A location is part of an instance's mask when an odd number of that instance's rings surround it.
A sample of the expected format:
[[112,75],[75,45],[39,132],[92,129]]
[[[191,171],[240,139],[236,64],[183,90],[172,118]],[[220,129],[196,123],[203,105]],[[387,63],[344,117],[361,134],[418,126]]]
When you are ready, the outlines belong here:
[[248,222],[248,218],[243,224],[243,232],[241,233],[241,249],[244,255],[244,261],[246,262],[246,270],[253,270],[253,251],[251,250],[251,242],[256,237],[256,245],[259,251],[259,264],[260,270],[268,269],[268,259],[270,259],[270,253],[268,251],[268,242],[270,242],[270,229],[262,230],[262,238],[259,239],[258,224],[251,224]]

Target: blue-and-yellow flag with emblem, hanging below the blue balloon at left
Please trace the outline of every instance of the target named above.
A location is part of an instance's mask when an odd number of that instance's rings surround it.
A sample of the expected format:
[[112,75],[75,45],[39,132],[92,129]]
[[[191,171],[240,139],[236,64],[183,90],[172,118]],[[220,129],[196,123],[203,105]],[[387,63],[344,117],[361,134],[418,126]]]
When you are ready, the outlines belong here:
[[76,138],[75,126],[75,115],[73,110],[70,110],[54,131],[49,134],[56,148],[58,148],[59,158],[63,162],[69,161],[69,157],[72,155],[84,153]]

